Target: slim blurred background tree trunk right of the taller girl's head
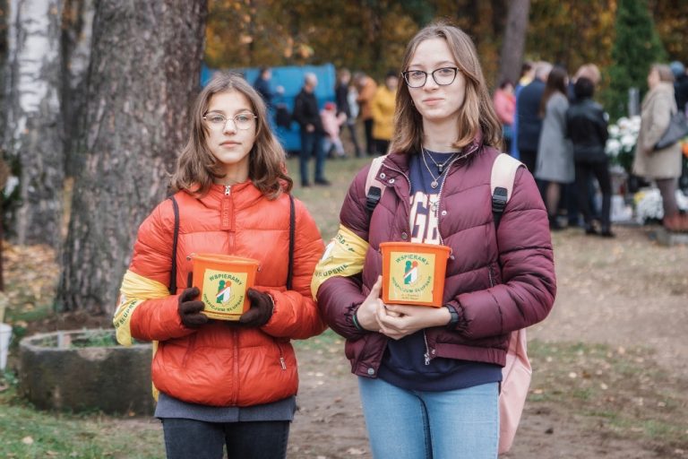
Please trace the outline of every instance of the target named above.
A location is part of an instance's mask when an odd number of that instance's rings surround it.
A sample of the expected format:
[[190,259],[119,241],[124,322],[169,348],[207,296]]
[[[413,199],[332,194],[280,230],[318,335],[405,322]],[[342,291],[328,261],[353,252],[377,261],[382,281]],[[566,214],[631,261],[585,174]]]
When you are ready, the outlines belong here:
[[503,80],[510,80],[516,84],[519,80],[529,10],[530,0],[512,0],[509,3],[497,84]]

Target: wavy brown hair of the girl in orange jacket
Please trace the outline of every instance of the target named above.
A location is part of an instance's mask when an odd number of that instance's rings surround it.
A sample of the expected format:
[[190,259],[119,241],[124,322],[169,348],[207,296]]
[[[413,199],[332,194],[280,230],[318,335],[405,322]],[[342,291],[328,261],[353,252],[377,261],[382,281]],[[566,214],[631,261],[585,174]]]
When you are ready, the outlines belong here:
[[262,97],[240,74],[219,73],[203,88],[196,98],[191,119],[191,135],[176,160],[176,170],[170,186],[174,191],[185,190],[193,195],[206,195],[215,178],[222,178],[221,164],[208,149],[208,127],[203,117],[215,94],[237,91],[244,94],[256,118],[254,146],[249,152],[248,177],[262,194],[277,198],[282,191],[289,192],[294,182],[288,177],[287,155],[272,135],[268,125],[267,108]]

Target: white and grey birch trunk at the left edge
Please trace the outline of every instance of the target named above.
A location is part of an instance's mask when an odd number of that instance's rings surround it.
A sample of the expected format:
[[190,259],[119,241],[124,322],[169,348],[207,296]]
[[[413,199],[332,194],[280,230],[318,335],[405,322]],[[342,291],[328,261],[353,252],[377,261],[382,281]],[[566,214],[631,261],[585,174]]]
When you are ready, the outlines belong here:
[[61,242],[64,185],[60,87],[60,0],[8,4],[4,146],[21,165],[19,244]]

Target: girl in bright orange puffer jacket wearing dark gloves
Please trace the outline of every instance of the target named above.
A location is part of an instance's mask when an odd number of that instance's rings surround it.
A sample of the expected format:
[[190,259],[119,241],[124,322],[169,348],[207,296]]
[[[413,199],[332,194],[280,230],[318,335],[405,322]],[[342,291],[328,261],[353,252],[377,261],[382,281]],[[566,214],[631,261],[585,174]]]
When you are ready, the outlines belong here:
[[[289,340],[324,325],[309,289],[323,241],[290,199],[284,160],[258,92],[218,74],[196,99],[176,194],[139,228],[114,324],[122,344],[157,342],[151,375],[168,458],[220,459],[225,446],[229,457],[286,456],[298,385]],[[259,262],[238,321],[203,314],[186,286],[193,253]]]

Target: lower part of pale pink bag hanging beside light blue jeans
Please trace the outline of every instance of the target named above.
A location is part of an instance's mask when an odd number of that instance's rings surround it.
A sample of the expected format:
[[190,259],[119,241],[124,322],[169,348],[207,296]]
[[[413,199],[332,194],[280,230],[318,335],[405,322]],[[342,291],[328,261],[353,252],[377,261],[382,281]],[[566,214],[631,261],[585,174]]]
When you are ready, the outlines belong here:
[[502,368],[502,387],[499,393],[499,454],[512,447],[520,415],[526,403],[533,370],[527,353],[526,329],[512,332],[506,365]]

